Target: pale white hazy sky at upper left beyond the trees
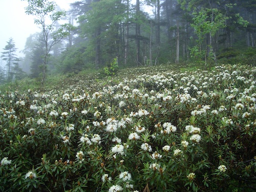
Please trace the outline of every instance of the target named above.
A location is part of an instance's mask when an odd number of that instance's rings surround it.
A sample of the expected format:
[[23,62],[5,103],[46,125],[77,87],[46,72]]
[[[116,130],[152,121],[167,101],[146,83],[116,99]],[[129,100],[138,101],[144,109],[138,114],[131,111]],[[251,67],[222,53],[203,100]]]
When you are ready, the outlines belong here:
[[[54,0],[53,0],[54,1]],[[69,9],[69,4],[78,0],[55,0],[56,4],[63,10]],[[28,3],[21,0],[0,0],[0,55],[7,45],[10,37],[13,38],[17,48],[16,54],[25,47],[27,37],[39,32],[40,29],[34,24],[34,16],[26,15],[25,7]]]

